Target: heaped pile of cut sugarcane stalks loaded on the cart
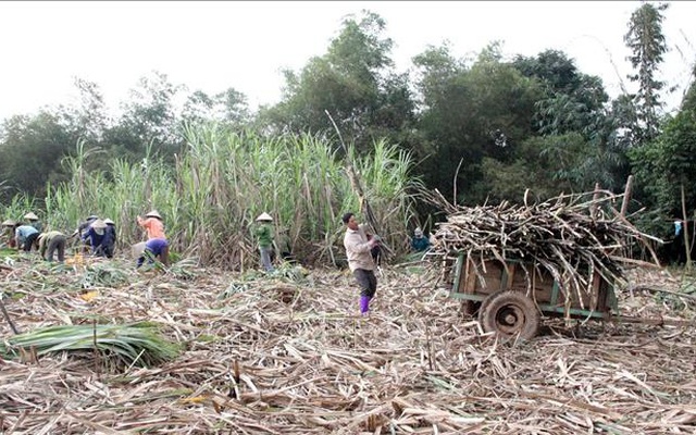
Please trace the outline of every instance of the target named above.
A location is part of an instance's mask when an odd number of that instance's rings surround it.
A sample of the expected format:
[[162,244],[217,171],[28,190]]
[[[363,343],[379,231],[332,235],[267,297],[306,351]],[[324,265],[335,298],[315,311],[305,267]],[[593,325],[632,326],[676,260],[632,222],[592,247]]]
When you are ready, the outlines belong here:
[[587,288],[599,273],[609,282],[621,277],[632,252],[643,250],[657,262],[650,246],[662,240],[639,232],[614,209],[622,196],[601,191],[563,195],[544,202],[459,207],[438,191],[425,199],[447,213],[437,224],[431,258],[459,253],[500,261],[521,260],[550,272],[573,290]]

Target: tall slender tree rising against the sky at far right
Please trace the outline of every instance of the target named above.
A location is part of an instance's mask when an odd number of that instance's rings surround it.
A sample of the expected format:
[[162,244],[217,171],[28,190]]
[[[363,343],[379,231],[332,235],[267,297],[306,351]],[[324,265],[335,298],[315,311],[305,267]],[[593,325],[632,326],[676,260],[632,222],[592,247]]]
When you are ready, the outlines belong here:
[[664,82],[658,79],[660,64],[668,51],[664,34],[662,33],[662,12],[668,3],[644,3],[631,15],[629,32],[624,41],[632,54],[627,58],[634,70],[629,75],[631,82],[638,83],[638,91],[633,97],[637,123],[635,128],[635,145],[643,145],[652,140],[659,133],[659,110],[663,105],[659,91]]

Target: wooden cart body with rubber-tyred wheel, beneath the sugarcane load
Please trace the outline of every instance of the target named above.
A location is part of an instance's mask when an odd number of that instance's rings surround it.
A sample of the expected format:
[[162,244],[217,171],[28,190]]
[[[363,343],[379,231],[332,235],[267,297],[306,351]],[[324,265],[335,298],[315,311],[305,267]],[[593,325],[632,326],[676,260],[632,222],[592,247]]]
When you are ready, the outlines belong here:
[[611,283],[594,273],[584,291],[571,291],[546,269],[521,261],[478,259],[460,253],[450,297],[461,299],[467,314],[478,312],[485,332],[530,339],[539,328],[542,315],[609,320],[618,313]]

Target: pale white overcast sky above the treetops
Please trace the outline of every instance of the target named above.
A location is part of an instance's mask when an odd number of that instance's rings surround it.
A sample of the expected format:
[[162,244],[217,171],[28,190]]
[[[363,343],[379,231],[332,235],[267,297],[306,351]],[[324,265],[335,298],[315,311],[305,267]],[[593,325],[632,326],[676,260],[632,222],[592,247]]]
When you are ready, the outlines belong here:
[[[663,33],[671,51],[660,78],[679,105],[696,61],[696,2],[669,2]],[[386,22],[399,71],[428,46],[448,41],[468,58],[502,41],[506,57],[564,51],[582,73],[602,78],[611,97],[632,73],[623,42],[639,1],[1,1],[0,119],[76,100],[74,78],[96,83],[107,104],[128,99],[157,71],[190,91],[229,87],[251,108],[279,100],[282,70],[323,55],[341,21],[366,9]]]

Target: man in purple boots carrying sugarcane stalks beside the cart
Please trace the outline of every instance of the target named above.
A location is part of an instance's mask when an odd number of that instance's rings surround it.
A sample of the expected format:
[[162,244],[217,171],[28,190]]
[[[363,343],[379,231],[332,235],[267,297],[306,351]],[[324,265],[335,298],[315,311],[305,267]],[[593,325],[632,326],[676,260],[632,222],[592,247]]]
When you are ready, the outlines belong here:
[[380,236],[373,236],[368,240],[364,225],[358,224],[353,213],[344,214],[343,221],[348,227],[344,237],[348,268],[360,286],[360,313],[364,315],[370,311],[370,299],[377,290],[375,264],[370,250],[380,244]]

